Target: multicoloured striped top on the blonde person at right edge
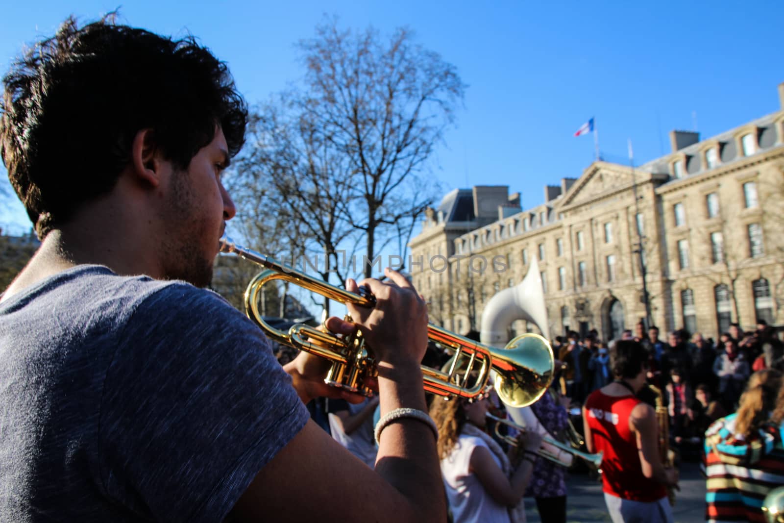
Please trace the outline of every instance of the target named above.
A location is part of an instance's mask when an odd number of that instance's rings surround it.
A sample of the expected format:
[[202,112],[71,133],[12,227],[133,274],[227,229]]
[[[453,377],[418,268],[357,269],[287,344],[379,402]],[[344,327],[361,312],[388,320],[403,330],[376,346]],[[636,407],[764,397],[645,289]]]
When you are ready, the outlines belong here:
[[735,414],[705,433],[707,521],[759,521],[771,489],[784,485],[784,425],[764,426],[751,438],[735,434]]

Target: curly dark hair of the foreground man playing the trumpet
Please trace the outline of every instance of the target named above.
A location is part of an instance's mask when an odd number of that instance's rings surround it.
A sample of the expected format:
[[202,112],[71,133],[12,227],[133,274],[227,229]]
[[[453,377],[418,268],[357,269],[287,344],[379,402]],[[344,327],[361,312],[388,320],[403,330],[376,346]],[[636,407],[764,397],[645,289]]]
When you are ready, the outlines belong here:
[[38,238],[111,191],[142,129],[178,169],[216,125],[230,155],[245,140],[248,108],[226,64],[192,36],[115,24],[115,14],[82,27],[69,17],[3,78],[0,154]]

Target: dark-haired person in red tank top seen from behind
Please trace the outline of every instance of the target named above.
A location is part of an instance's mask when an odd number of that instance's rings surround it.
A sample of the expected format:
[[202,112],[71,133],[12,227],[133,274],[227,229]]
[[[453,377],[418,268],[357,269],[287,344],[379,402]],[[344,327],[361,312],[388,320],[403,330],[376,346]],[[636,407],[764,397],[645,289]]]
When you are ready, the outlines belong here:
[[651,405],[637,398],[648,372],[641,343],[619,341],[610,350],[615,381],[594,390],[583,405],[588,452],[604,452],[604,501],[614,523],[673,521],[666,487],[677,470],[662,466],[659,427]]

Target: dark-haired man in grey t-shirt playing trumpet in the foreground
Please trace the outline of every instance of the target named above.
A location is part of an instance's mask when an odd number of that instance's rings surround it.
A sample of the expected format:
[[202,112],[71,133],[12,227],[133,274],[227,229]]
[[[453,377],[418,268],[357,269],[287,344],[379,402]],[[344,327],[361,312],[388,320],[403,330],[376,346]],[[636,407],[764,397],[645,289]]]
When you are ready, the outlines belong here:
[[42,245],[0,301],[0,521],[445,521],[410,282],[387,271],[361,282],[377,307],[349,306],[379,368],[375,470],[309,419],[316,396],[358,400],[325,362],[281,368],[200,289],[247,119],[225,64],[69,19],[4,83],[3,162]]

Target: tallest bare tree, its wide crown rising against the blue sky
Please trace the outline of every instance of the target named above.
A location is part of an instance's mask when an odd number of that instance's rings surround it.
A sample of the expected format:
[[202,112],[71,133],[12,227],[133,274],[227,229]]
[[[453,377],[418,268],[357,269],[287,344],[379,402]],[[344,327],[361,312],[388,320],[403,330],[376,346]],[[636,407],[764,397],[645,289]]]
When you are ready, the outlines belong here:
[[[299,42],[307,120],[347,158],[355,191],[352,225],[365,234],[369,260],[385,234],[416,221],[436,195],[427,160],[465,85],[441,56],[400,28],[388,42],[377,31],[342,31],[335,19]],[[370,276],[372,264],[365,264]]]

